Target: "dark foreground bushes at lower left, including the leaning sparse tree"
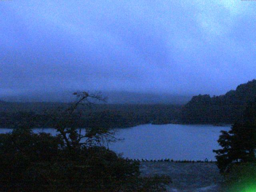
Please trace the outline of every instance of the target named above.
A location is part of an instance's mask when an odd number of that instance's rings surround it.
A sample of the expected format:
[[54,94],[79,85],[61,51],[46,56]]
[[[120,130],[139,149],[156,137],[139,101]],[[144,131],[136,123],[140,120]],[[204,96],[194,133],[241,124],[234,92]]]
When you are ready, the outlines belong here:
[[[165,191],[168,176],[141,177],[139,162],[124,159],[104,144],[116,140],[109,128],[87,127],[82,135],[73,114],[99,95],[75,93],[69,108],[54,111],[58,136],[34,134],[24,122],[0,134],[0,190],[8,192]],[[75,117],[77,118],[77,116]]]

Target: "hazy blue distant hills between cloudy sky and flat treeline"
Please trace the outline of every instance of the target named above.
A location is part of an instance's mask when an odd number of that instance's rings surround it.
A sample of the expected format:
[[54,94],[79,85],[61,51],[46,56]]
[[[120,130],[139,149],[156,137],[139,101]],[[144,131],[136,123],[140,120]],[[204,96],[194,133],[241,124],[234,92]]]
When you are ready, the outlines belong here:
[[[34,92],[0,95],[6,102],[71,102],[74,91]],[[124,91],[105,91],[108,104],[186,104],[192,96]]]

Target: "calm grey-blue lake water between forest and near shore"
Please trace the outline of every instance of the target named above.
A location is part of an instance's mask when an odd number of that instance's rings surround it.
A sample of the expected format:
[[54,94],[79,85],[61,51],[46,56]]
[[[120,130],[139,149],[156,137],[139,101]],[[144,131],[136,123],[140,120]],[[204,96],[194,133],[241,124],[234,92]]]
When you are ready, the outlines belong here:
[[[230,126],[144,124],[116,129],[116,137],[124,140],[112,143],[109,147],[132,159],[216,160],[212,150],[220,148],[217,142],[220,130],[229,129]],[[0,129],[0,133],[10,131]],[[56,134],[51,128],[36,128],[33,131]]]

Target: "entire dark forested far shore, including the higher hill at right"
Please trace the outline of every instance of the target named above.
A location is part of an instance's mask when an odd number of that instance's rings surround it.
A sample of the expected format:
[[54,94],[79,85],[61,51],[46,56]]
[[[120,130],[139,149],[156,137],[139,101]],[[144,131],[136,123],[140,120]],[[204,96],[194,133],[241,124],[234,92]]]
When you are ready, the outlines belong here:
[[[242,119],[248,103],[256,97],[256,80],[239,85],[224,95],[198,95],[184,106],[170,104],[94,104],[84,108],[80,126],[104,124],[111,128],[125,128],[139,124],[232,124]],[[0,127],[17,126],[24,120],[32,127],[52,127],[45,111],[57,107],[68,108],[69,103],[10,103],[0,102]],[[90,114],[90,115],[89,115]],[[75,115],[75,114],[74,114]]]

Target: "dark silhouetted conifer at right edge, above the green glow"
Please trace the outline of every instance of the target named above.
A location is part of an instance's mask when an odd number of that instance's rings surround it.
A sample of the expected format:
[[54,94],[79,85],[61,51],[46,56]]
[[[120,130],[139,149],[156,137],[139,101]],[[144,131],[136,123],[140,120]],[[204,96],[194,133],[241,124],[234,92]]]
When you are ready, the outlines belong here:
[[248,105],[244,117],[230,131],[221,131],[220,150],[213,150],[221,172],[229,171],[233,163],[255,162],[256,152],[256,103]]

